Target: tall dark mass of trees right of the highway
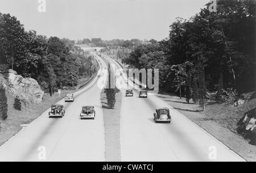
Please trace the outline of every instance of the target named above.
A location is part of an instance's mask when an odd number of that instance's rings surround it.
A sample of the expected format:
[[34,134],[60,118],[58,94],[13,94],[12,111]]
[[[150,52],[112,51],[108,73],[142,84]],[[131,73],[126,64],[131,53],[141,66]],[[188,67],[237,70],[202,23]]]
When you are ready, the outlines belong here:
[[207,91],[221,98],[226,88],[228,94],[255,90],[255,11],[254,0],[219,0],[217,12],[177,18],[168,39],[136,47],[123,62],[158,68],[160,87],[197,103]]

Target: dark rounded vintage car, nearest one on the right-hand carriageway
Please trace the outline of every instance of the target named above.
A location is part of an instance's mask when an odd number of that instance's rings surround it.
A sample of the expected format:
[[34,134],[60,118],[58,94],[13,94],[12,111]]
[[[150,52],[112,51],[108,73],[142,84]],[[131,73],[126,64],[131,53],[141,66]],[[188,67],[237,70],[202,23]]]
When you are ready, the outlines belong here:
[[165,123],[171,123],[171,115],[170,110],[168,108],[159,108],[156,109],[154,113],[154,120],[155,123],[165,122]]

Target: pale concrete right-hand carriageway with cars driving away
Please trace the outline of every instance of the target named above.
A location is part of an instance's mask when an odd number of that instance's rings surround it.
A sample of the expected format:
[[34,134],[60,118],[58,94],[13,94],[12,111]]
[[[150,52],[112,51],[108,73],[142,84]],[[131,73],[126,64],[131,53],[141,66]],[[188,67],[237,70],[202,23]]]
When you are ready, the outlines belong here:
[[[134,90],[133,97],[126,97],[125,88],[121,91],[122,161],[245,161],[156,95],[139,98]],[[153,113],[160,107],[170,109],[171,124],[154,123]]]

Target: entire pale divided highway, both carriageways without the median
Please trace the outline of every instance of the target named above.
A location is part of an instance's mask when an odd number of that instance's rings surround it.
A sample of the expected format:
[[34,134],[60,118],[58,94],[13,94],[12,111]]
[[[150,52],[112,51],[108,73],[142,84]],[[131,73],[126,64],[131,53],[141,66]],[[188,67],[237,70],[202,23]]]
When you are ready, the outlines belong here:
[[[104,60],[93,52],[106,68]],[[117,68],[122,68],[104,56]],[[64,103],[63,119],[49,119],[49,109],[0,147],[0,161],[105,161],[104,119],[100,92],[95,78],[75,93],[75,102]],[[131,82],[130,82],[131,84]],[[125,97],[122,91],[122,161],[244,161],[216,138],[177,112],[156,95]],[[95,120],[80,120],[82,106],[93,105]],[[171,124],[155,124],[156,108],[167,107]],[[46,149],[46,159],[42,151]]]

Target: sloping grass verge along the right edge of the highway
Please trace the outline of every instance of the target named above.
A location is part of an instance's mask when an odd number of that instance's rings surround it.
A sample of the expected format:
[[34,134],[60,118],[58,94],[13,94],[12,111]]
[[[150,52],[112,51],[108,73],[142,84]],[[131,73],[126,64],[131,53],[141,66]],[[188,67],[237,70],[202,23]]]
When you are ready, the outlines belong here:
[[158,97],[241,155],[246,161],[256,161],[256,146],[250,145],[236,132],[238,121],[245,112],[256,106],[256,99],[249,100],[238,107],[208,102],[206,110],[203,111],[200,106],[188,104],[185,98],[180,99],[179,96],[161,92]]

